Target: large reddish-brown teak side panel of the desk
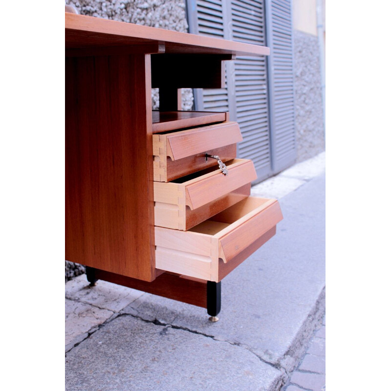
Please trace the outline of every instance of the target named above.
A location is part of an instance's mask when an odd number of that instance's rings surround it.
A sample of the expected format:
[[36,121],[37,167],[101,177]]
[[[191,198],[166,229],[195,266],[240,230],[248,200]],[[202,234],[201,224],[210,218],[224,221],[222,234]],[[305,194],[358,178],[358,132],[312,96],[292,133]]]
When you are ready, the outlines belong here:
[[152,281],[149,55],[66,58],[65,259]]

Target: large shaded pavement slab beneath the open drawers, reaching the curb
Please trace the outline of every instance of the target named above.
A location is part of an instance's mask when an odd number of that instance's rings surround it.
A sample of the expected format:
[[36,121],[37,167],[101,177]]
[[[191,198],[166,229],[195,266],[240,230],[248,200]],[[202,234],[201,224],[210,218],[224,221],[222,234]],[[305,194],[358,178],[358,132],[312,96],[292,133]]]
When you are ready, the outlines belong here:
[[123,311],[248,348],[296,367],[325,309],[325,175],[280,200],[277,235],[222,281],[219,322],[205,309],[151,294]]

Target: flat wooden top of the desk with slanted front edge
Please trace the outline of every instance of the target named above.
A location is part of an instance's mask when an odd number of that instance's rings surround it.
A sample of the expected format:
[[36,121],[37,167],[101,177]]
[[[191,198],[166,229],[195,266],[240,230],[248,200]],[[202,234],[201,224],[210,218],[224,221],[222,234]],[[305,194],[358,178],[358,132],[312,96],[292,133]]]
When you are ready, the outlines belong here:
[[[180,33],[65,12],[65,48],[159,44],[165,53],[268,55],[266,46]],[[146,48],[146,53],[148,49]]]

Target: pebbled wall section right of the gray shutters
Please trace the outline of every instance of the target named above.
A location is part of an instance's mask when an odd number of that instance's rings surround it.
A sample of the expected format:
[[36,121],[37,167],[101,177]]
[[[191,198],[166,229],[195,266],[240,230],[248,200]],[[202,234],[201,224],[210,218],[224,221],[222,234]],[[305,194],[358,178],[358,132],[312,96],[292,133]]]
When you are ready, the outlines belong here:
[[318,37],[294,31],[297,162],[325,151]]

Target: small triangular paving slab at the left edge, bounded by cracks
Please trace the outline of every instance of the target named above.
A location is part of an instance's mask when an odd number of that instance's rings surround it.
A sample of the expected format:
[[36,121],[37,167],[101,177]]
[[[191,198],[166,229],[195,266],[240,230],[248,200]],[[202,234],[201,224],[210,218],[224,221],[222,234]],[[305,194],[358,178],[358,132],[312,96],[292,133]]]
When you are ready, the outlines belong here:
[[88,331],[104,323],[112,311],[65,299],[65,351],[83,341]]

